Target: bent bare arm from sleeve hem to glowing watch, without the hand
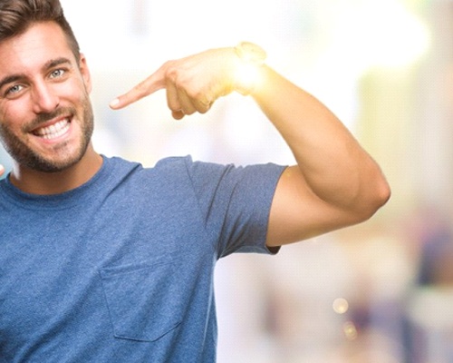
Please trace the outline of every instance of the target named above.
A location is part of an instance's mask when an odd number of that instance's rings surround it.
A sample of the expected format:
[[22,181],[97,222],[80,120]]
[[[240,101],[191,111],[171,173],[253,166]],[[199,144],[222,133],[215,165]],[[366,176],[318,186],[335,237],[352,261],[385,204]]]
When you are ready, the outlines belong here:
[[252,93],[294,154],[272,205],[267,244],[304,240],[366,221],[389,198],[379,165],[327,107],[262,68]]

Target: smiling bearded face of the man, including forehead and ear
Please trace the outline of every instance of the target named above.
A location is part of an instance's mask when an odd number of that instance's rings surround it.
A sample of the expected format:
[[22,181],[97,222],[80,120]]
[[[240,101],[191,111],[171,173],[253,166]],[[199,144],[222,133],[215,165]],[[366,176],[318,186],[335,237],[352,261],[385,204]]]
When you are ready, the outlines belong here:
[[62,171],[82,159],[92,136],[92,90],[61,28],[32,25],[0,43],[0,139],[21,167]]

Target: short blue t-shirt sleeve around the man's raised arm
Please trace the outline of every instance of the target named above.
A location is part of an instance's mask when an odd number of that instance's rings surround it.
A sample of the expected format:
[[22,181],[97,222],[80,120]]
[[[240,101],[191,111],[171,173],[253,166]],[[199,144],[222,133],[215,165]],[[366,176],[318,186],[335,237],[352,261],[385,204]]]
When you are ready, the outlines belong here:
[[273,253],[265,247],[276,184],[284,166],[235,166],[186,159],[207,233],[217,257],[233,252]]

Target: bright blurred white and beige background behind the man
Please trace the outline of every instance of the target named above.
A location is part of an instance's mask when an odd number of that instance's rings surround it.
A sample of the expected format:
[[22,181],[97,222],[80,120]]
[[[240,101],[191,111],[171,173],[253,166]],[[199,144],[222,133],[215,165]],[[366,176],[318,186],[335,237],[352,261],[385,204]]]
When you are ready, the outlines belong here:
[[[160,91],[108,103],[165,61],[248,40],[381,164],[371,221],[217,267],[218,362],[453,362],[452,0],[62,0],[92,70],[98,152],[289,164],[250,98],[174,122]],[[0,162],[11,162],[0,150]]]

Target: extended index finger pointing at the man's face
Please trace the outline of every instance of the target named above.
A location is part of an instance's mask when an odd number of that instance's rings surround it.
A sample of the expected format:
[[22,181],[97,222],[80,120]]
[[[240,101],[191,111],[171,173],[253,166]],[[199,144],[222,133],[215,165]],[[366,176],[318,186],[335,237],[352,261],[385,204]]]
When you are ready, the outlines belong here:
[[159,69],[154,74],[151,74],[147,79],[130,89],[129,92],[124,93],[113,100],[110,103],[110,107],[113,110],[119,110],[121,108],[129,106],[130,103],[139,101],[140,99],[148,96],[151,93],[159,91],[162,88],[165,88],[164,72],[162,71],[162,69]]

